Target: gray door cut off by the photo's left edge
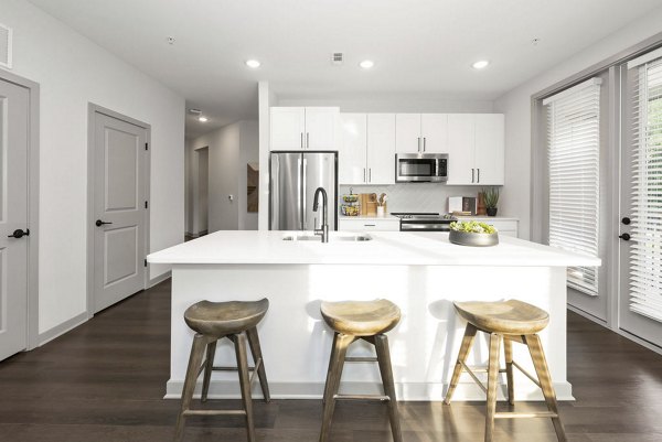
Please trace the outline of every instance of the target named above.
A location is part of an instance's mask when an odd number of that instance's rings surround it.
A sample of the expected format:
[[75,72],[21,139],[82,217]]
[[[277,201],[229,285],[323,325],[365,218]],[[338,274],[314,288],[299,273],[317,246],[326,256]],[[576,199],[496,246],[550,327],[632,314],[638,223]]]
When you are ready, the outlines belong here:
[[0,360],[28,347],[28,89],[0,80]]

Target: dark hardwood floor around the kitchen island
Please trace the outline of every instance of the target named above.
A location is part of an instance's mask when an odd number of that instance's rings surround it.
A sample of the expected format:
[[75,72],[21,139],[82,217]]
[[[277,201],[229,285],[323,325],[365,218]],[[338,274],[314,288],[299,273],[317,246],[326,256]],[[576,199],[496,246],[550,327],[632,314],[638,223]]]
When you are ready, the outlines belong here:
[[[0,441],[170,441],[179,401],[162,399],[169,324],[170,283],[163,282],[41,348],[0,363]],[[562,402],[560,411],[569,440],[662,441],[662,356],[573,313],[568,332],[568,377],[577,400]],[[254,403],[260,442],[317,441],[319,400]],[[401,413],[408,442],[483,438],[481,402],[401,402]],[[556,441],[547,419],[502,420],[496,429],[498,442]],[[339,403],[331,440],[391,441],[386,408]],[[245,441],[244,422],[192,418],[185,441]]]

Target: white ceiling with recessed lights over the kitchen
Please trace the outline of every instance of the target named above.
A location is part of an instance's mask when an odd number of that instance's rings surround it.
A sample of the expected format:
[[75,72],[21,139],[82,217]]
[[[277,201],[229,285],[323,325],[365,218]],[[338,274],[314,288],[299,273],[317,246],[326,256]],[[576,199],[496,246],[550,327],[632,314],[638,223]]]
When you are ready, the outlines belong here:
[[[203,110],[186,136],[284,97],[425,94],[494,99],[660,0],[30,0]],[[173,36],[173,45],[168,44]],[[533,39],[540,39],[537,45]],[[332,52],[344,52],[332,66]],[[250,57],[259,69],[244,65]],[[371,58],[371,71],[357,67]],[[484,71],[470,65],[492,61]]]

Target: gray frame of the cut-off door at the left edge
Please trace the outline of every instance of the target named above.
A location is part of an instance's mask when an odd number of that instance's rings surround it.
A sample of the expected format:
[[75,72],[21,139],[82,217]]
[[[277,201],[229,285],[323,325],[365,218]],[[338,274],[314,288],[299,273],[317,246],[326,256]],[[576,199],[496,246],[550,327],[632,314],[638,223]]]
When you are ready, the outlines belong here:
[[0,80],[28,89],[28,347],[39,347],[39,141],[40,85],[28,78],[0,69]]

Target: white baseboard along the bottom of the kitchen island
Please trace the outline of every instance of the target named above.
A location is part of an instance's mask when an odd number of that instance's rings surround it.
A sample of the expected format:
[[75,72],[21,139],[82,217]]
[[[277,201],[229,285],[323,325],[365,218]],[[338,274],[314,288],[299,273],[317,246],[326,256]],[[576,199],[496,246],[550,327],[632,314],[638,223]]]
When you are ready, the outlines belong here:
[[[531,384],[531,382],[530,382]],[[180,399],[183,380],[169,380],[166,386],[164,399]],[[398,400],[409,401],[442,401],[447,384],[441,382],[396,382],[395,390]],[[573,397],[573,386],[569,382],[555,382],[554,389],[558,400],[575,400]],[[195,398],[200,398],[202,384],[195,387]],[[273,399],[322,399],[324,391],[323,382],[269,382],[269,391]],[[378,382],[341,382],[341,392],[382,395],[382,385]],[[258,382],[253,385],[253,395],[256,398],[261,397],[261,390]],[[506,398],[505,385],[500,385],[496,394],[498,400]],[[210,382],[210,399],[241,399],[239,386],[236,381],[212,380]],[[524,391],[520,391],[516,400],[544,400],[541,390],[531,384]],[[485,394],[476,384],[460,382],[452,397],[453,401],[484,401]]]

